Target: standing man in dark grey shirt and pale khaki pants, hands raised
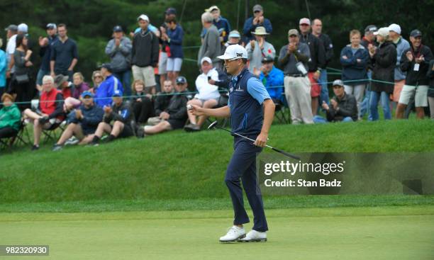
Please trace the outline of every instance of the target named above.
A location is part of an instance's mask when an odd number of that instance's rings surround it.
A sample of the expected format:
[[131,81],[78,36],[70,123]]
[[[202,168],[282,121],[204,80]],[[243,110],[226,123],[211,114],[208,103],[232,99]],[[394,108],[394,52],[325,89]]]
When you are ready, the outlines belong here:
[[296,29],[288,31],[288,41],[289,44],[280,49],[279,64],[284,68],[285,96],[291,120],[294,125],[312,124],[311,83],[307,77],[311,52],[306,43],[300,42]]

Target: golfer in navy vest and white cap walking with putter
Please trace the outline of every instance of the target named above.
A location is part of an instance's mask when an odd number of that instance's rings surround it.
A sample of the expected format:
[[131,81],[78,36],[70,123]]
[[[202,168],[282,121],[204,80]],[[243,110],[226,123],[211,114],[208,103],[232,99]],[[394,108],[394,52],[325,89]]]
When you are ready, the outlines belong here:
[[[265,242],[267,241],[267,220],[265,219],[262,195],[257,185],[256,154],[267,143],[269,127],[274,117],[274,103],[262,82],[247,68],[247,51],[240,45],[230,45],[224,55],[228,74],[232,75],[229,84],[228,106],[222,108],[201,108],[192,106],[190,113],[219,118],[230,117],[232,132],[250,137],[255,142],[234,135],[234,152],[226,170],[225,182],[232,198],[235,219],[228,233],[220,237],[220,242]],[[243,224],[249,222],[244,208],[243,188],[253,211],[254,225],[245,234]]]

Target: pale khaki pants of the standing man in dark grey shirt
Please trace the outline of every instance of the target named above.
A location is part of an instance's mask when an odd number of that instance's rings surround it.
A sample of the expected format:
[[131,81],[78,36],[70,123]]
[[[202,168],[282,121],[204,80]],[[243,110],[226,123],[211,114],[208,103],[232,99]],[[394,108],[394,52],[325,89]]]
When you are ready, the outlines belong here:
[[293,124],[313,124],[311,108],[311,83],[308,77],[284,78],[285,96]]

